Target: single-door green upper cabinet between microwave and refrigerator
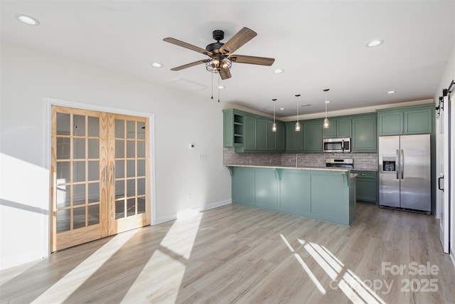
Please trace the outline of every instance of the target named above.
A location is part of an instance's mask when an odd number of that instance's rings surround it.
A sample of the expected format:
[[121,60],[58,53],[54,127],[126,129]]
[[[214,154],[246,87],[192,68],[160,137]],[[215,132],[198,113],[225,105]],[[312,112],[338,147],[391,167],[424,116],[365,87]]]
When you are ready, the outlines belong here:
[[378,132],[376,114],[353,117],[351,152],[377,152]]

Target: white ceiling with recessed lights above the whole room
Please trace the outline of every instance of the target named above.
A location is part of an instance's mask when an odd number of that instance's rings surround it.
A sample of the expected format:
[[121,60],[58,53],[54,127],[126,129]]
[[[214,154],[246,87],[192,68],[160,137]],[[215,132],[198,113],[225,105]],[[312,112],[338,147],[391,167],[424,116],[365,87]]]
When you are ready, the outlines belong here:
[[[190,80],[214,103],[218,74],[205,65],[170,68],[205,59],[162,41],[173,37],[205,48],[212,31],[228,41],[243,26],[257,36],[238,55],[275,58],[272,66],[233,63],[220,80],[221,102],[279,116],[433,98],[454,48],[455,1],[5,1],[1,38],[55,56],[71,58],[154,83]],[[19,22],[16,14],[38,19]],[[365,45],[385,41],[376,48]],[[159,62],[163,68],[153,68]],[[284,69],[282,74],[273,70]],[[211,79],[214,99],[211,96]],[[388,90],[397,93],[387,95]]]

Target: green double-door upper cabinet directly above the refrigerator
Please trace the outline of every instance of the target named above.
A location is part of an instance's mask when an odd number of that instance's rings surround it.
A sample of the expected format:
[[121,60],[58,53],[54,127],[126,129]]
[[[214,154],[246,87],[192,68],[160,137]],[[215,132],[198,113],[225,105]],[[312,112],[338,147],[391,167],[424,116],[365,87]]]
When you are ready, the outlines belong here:
[[431,134],[434,104],[378,110],[378,133],[385,135]]

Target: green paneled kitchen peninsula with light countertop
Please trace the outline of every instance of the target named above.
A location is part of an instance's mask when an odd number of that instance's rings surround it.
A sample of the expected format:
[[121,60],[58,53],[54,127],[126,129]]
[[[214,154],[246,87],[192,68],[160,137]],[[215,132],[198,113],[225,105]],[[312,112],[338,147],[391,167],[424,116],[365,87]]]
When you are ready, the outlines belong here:
[[232,203],[349,226],[355,220],[350,169],[226,164]]

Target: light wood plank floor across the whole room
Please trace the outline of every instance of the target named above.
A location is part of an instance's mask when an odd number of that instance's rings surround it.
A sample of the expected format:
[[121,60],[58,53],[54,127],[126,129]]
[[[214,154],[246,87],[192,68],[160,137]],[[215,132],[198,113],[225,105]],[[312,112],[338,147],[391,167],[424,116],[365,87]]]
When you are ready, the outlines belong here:
[[437,224],[364,204],[350,227],[232,204],[11,268],[0,303],[454,303]]

